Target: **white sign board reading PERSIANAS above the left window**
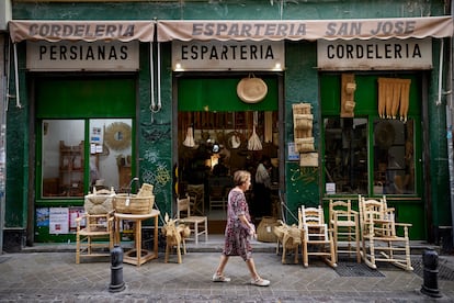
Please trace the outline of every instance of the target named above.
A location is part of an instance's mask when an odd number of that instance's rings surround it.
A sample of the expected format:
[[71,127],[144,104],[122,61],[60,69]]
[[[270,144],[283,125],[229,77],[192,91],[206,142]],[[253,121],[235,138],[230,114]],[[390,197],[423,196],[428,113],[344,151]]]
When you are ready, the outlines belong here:
[[26,68],[34,71],[115,70],[139,68],[138,42],[30,42],[26,43]]

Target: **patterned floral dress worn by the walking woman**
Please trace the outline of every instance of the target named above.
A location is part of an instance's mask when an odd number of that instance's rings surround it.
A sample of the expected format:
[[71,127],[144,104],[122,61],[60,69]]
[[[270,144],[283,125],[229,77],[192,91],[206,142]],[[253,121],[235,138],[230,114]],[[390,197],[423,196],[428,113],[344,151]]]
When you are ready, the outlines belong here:
[[245,193],[241,190],[232,189],[228,194],[227,225],[223,254],[226,256],[240,256],[245,261],[251,258],[252,247],[249,242],[249,231],[239,220],[246,215],[250,221],[249,207]]

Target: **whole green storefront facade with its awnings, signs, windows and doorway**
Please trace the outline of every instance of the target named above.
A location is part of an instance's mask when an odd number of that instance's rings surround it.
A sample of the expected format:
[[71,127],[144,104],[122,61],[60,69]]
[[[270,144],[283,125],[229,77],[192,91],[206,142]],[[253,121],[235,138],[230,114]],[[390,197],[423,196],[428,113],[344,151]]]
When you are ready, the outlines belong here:
[[[263,155],[274,159],[273,191],[290,223],[302,204],[385,193],[399,221],[413,223],[413,239],[433,240],[438,226],[451,225],[450,172],[440,160],[447,159],[446,108],[438,103],[438,83],[452,67],[441,54],[449,57],[453,27],[442,2],[415,4],[432,18],[399,2],[337,3],[339,12],[351,11],[349,19],[319,2],[95,3],[102,16],[92,5],[13,5],[16,78],[9,82],[19,98],[7,112],[10,247],[71,240],[70,218],[93,186],[128,190],[137,176],[155,186],[161,213],[172,214],[175,195],[191,183],[209,187],[215,162],[228,160],[228,176],[253,170]],[[71,21],[59,20],[66,10]],[[128,21],[115,21],[120,11]],[[241,20],[257,11],[257,20]],[[215,12],[216,20],[197,20]],[[243,78],[264,81],[263,100],[241,100]],[[409,83],[394,89],[402,96],[399,109],[407,108],[397,117],[383,112],[382,79]],[[302,160],[307,153],[295,153],[300,103],[313,115],[310,164]],[[247,146],[256,127],[262,148]],[[76,147],[79,154],[65,162],[61,155]],[[209,171],[194,182],[198,160]]]

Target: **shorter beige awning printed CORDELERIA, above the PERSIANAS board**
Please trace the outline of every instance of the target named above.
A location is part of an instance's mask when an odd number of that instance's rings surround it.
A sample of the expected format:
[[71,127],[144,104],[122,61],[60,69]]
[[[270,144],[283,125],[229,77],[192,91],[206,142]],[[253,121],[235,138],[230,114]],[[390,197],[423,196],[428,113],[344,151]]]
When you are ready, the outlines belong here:
[[13,20],[9,22],[13,43],[27,41],[121,41],[151,42],[155,21],[48,21]]

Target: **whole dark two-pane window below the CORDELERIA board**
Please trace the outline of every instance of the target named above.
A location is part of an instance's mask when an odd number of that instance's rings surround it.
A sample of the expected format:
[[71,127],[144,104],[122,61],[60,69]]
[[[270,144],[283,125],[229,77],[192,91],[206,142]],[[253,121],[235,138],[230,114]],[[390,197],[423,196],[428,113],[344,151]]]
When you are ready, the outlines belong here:
[[367,194],[370,182],[373,194],[415,193],[413,120],[376,119],[372,138],[367,119],[327,117],[324,123],[327,193]]

